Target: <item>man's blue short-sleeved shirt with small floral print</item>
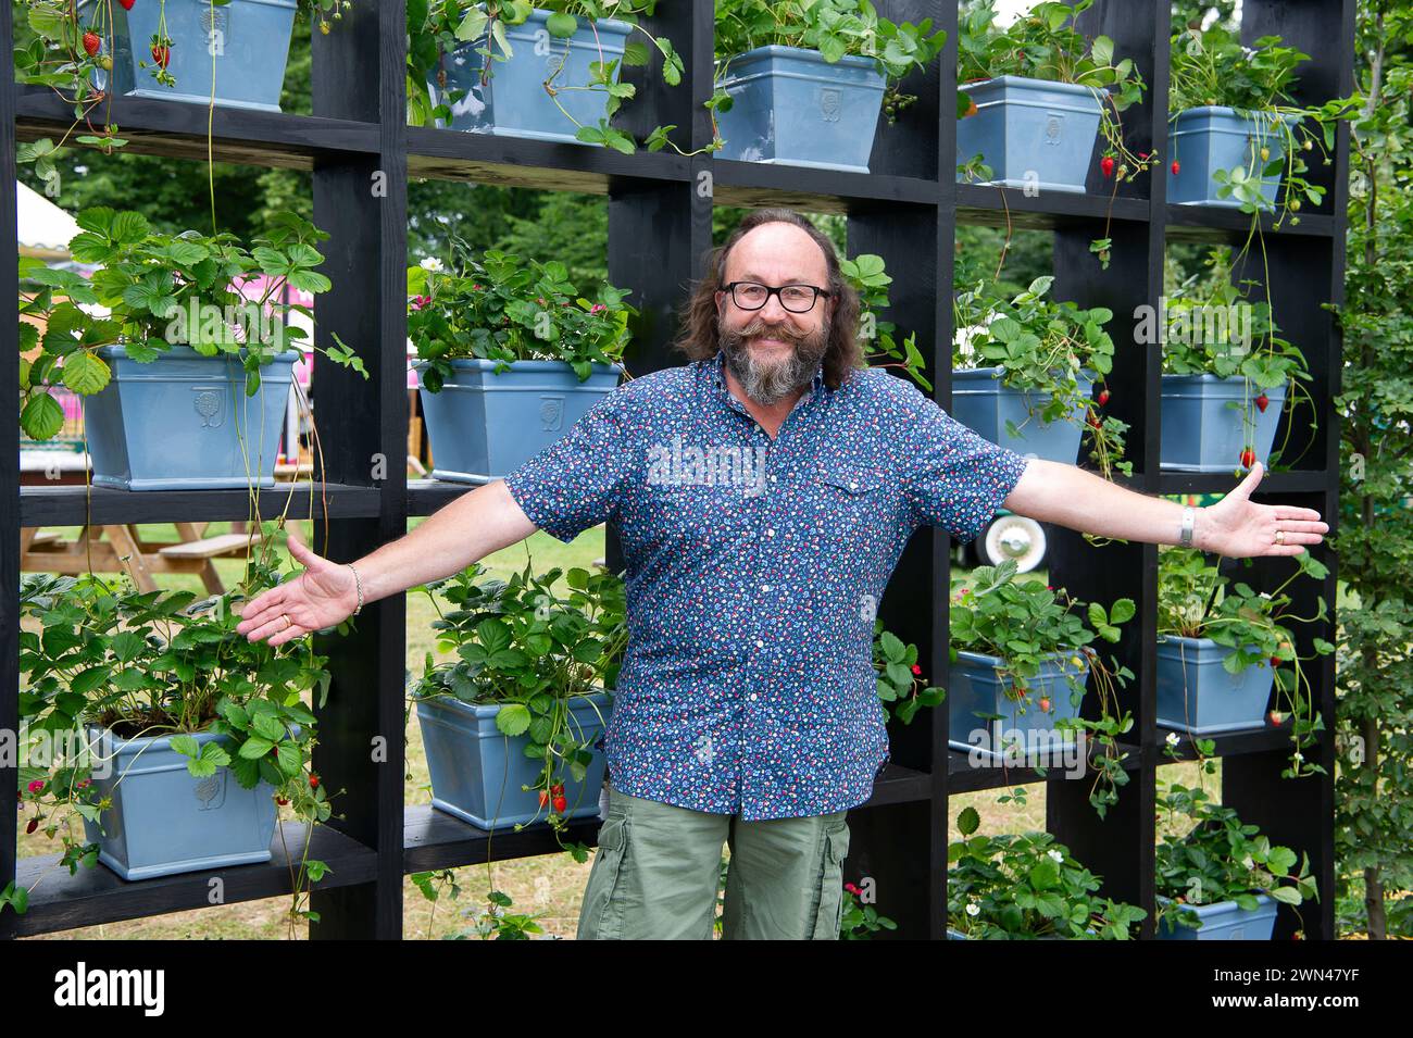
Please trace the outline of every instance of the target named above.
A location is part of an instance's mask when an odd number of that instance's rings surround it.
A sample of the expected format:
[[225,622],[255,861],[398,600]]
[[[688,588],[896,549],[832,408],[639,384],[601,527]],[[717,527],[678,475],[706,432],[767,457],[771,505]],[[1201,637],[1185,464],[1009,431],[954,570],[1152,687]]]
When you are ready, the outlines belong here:
[[883,369],[818,369],[771,441],[723,360],[629,380],[506,484],[560,541],[617,525],[615,789],[745,821],[858,806],[889,758],[873,621],[899,555],[920,525],[976,537],[1026,458]]

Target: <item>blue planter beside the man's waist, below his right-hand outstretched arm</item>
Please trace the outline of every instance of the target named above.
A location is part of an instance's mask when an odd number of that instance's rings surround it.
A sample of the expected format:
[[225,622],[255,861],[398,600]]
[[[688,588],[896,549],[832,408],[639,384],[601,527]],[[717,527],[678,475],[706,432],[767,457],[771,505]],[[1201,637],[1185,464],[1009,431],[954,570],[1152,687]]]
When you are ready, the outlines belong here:
[[[1046,751],[1068,750],[1075,746],[1075,736],[1056,730],[1056,722],[1072,720],[1080,716],[1080,703],[1071,702],[1072,691],[1065,675],[1080,678],[1081,688],[1088,685],[1089,668],[1075,667],[1070,660],[1074,652],[1057,652],[1044,662],[1040,674],[1030,679],[1030,705],[1020,713],[1022,703],[1009,699],[1005,682],[996,668],[1000,657],[983,652],[958,650],[957,662],[947,671],[947,716],[950,724],[948,744],[954,750],[979,753],[996,763],[1006,760],[1006,740],[1015,740],[1015,753],[1024,758],[1031,746],[1044,756]],[[1050,713],[1040,710],[1040,698],[1050,696]],[[982,719],[978,715],[999,713],[1000,720]],[[986,729],[986,741],[966,741],[974,730]],[[1015,734],[1019,732],[1020,734]],[[1036,737],[1031,737],[1031,732]],[[1031,741],[1033,740],[1033,741]]]

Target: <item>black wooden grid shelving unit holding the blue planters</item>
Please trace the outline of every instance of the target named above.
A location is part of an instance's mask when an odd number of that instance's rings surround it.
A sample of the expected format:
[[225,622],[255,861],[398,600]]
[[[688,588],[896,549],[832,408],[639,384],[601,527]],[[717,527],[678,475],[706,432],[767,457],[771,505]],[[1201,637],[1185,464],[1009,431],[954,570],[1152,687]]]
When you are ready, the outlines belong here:
[[[605,193],[609,196],[609,277],[634,290],[630,302],[642,309],[627,364],[633,374],[681,363],[668,343],[677,308],[690,282],[699,275],[711,247],[714,205],[787,205],[848,215],[851,254],[877,253],[893,275],[887,318],[935,343],[928,377],[937,402],[951,405],[950,363],[952,309],[950,287],[957,223],[1043,229],[1054,234],[1056,297],[1115,312],[1111,333],[1119,343],[1109,377],[1109,410],[1129,422],[1129,458],[1135,475],[1126,480],[1143,493],[1224,491],[1226,476],[1171,475],[1159,470],[1159,347],[1135,346],[1135,306],[1157,305],[1163,292],[1163,253],[1167,239],[1231,240],[1245,236],[1246,217],[1225,210],[1169,206],[1164,177],[1154,175],[1119,188],[1098,169],[1087,195],[1027,198],[1016,191],[958,185],[955,165],[957,11],[951,0],[879,0],[879,10],[901,21],[924,17],[948,31],[948,48],[926,75],[909,79],[918,95],[897,124],[880,120],[869,174],[756,165],[690,158],[675,153],[622,155],[606,148],[495,138],[456,131],[408,127],[404,123],[404,3],[359,3],[338,31],[314,38],[315,116],[263,114],[218,110],[213,153],[219,161],[312,171],[315,223],[331,233],[324,243],[324,271],[333,290],[318,301],[317,336],[321,346],[338,333],[363,357],[370,380],[328,366],[319,374],[321,438],[325,484],[315,490],[315,544],[333,559],[353,559],[400,537],[410,515],[442,507],[465,487],[431,480],[408,482],[403,466],[387,466],[387,479],[373,480],[373,458],[404,453],[407,391],[404,383],[407,178],[435,177],[509,184],[538,189]],[[1354,0],[1246,0],[1242,35],[1251,41],[1279,34],[1314,55],[1301,71],[1301,99],[1324,100],[1348,93],[1354,64]],[[1167,120],[1167,0],[1099,0],[1082,16],[1082,28],[1105,32],[1121,55],[1132,56],[1149,85],[1140,106],[1125,114],[1129,145],[1161,150]],[[712,85],[712,8],[708,3],[670,0],[650,24],[666,32],[685,56],[687,76],[664,88],[656,69],[639,73],[639,97],[620,113],[619,124],[637,136],[656,124],[677,124],[674,140],[692,151],[711,140],[702,102]],[[0,35],[10,38],[10,6],[0,6]],[[0,82],[13,80],[10,48]],[[177,102],[119,99],[113,119],[130,138],[129,150],[203,161],[206,110]],[[69,124],[68,109],[51,93],[11,86],[0,90],[0,124],[13,127],[0,145],[0,239],[16,237],[16,143],[52,136]],[[1340,338],[1325,301],[1342,299],[1348,147],[1341,129],[1335,162],[1316,169],[1328,188],[1325,203],[1279,232],[1267,229],[1272,292],[1276,318],[1286,336],[1306,353],[1314,373],[1316,414],[1297,412],[1300,429],[1318,422],[1314,446],[1299,470],[1267,476],[1258,491],[1267,503],[1287,501],[1318,508],[1334,525],[1338,494],[1337,415],[1331,398],[1340,390]],[[374,195],[374,177],[386,193]],[[1112,205],[1111,205],[1112,202]],[[1101,271],[1089,254],[1091,239],[1104,232],[1106,217],[1113,239],[1112,263]],[[1269,227],[1269,222],[1267,222]],[[6,274],[16,288],[16,268]],[[0,347],[0,395],[18,391],[14,326]],[[927,350],[924,350],[926,353]],[[1277,434],[1277,442],[1284,435]],[[0,727],[16,729],[17,587],[20,527],[81,524],[83,489],[18,489],[18,428],[4,425],[0,475],[6,493],[0,552]],[[294,490],[290,514],[309,517],[308,486]],[[261,493],[266,517],[278,514],[287,489]],[[324,501],[328,523],[322,518]],[[244,491],[123,493],[95,490],[92,517],[99,523],[174,520],[244,520]],[[1335,568],[1328,544],[1316,552],[1330,566],[1328,579],[1297,582],[1297,604],[1308,616],[1316,596],[1334,612]],[[615,531],[609,530],[609,562],[620,563]],[[1289,559],[1259,559],[1245,579],[1275,586],[1289,572]],[[1166,763],[1163,733],[1154,724],[1154,636],[1157,603],[1157,547],[1111,544],[1095,548],[1078,534],[1058,531],[1050,548],[1051,582],[1072,595],[1098,602],[1128,596],[1139,603],[1139,617],[1128,624],[1115,647],[1136,675],[1125,703],[1137,723],[1128,739],[1125,768],[1130,781],[1121,801],[1101,821],[1087,801],[1088,782],[1065,781],[1051,772],[1047,828],[1075,856],[1105,877],[1105,891],[1152,905],[1154,864],[1154,777]],[[923,662],[934,679],[947,672],[948,535],[924,530],[909,544],[889,585],[880,614],[890,630],[923,648]],[[325,781],[348,794],[341,798],[345,818],[315,836],[317,854],[332,871],[314,893],[312,907],[322,921],[315,938],[398,938],[403,917],[403,877],[431,867],[482,863],[487,853],[514,859],[557,850],[541,830],[487,835],[430,806],[404,806],[403,596],[365,610],[356,638],[324,640],[333,684],[321,717],[321,746],[315,765]],[[1308,654],[1310,640],[1332,640],[1332,631],[1304,627],[1297,650]],[[1330,729],[1318,751],[1307,754],[1334,772],[1334,658],[1321,657],[1308,668],[1316,703]],[[370,744],[387,739],[386,763],[370,761]],[[948,794],[1037,781],[1029,771],[975,770],[966,756],[948,748],[945,710],[924,712],[911,726],[893,726],[892,764],[873,798],[851,812],[853,833],[846,876],[873,877],[877,908],[899,922],[896,936],[941,938],[945,932],[945,867]],[[1320,885],[1320,904],[1303,907],[1310,938],[1334,936],[1334,791],[1328,775],[1282,780],[1289,737],[1282,730],[1229,736],[1218,740],[1224,757],[1222,799],[1246,821],[1259,823],[1275,842],[1307,852]],[[0,768],[0,787],[14,782],[14,770]],[[1039,780],[1046,781],[1046,780]],[[0,885],[16,874],[16,804],[0,813]],[[575,826],[592,842],[598,819]],[[297,832],[291,832],[295,846]],[[278,843],[278,842],[277,842]],[[487,852],[489,847],[489,852]],[[52,859],[18,861],[21,880],[35,876]],[[276,860],[266,866],[222,870],[226,901],[288,893],[288,870]],[[0,935],[24,936],[71,926],[127,919],[206,904],[209,877],[201,873],[124,883],[102,867],[69,878],[49,869],[30,911],[0,915]],[[1289,936],[1291,917],[1283,909],[1276,938]],[[1143,936],[1152,936],[1152,917]]]

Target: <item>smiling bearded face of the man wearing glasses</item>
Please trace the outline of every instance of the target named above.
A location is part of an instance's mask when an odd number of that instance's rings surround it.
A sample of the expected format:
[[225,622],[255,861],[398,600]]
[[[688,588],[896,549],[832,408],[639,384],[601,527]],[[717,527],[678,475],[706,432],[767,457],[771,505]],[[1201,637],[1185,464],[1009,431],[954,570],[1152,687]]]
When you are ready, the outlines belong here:
[[[763,223],[742,237],[726,257],[726,284],[756,281],[829,287],[824,253],[807,233],[788,223]],[[756,311],[738,306],[731,292],[716,292],[721,347],[742,390],[762,407],[808,387],[829,342],[835,299],[821,295],[804,314],[787,311],[771,295]]]

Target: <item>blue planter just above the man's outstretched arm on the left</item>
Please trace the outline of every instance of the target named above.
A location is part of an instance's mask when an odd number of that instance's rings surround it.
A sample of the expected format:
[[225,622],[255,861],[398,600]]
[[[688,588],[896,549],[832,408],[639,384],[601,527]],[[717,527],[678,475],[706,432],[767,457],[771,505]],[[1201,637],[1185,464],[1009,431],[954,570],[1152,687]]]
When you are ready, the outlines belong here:
[[[562,438],[617,386],[617,367],[593,364],[579,381],[562,360],[514,360],[496,374],[495,360],[452,360],[438,393],[418,390],[432,477],[487,483],[528,462]],[[425,363],[415,363],[418,376]]]

